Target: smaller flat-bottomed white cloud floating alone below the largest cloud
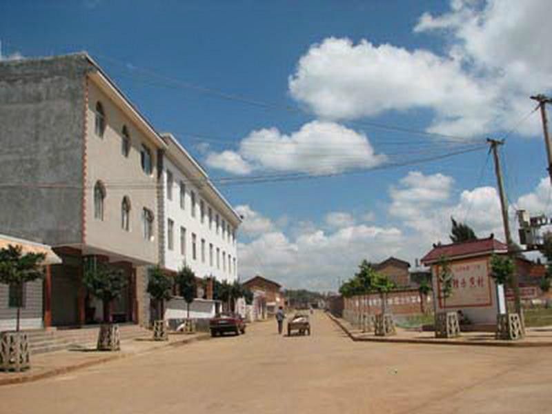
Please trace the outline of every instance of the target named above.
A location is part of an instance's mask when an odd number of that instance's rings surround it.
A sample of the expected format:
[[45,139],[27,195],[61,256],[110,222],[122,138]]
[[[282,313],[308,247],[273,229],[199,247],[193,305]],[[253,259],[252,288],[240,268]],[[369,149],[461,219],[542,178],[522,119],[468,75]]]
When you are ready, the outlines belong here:
[[326,121],[309,122],[289,135],[277,128],[254,130],[237,151],[211,152],[206,159],[208,166],[242,175],[260,169],[328,174],[383,161],[364,133]]

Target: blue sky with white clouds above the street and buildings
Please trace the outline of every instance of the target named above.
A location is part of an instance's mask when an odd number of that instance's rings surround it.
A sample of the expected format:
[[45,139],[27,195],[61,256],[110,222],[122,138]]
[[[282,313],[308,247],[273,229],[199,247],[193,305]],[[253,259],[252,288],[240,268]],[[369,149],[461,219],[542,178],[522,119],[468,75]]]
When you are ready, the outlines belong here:
[[516,209],[550,213],[529,96],[552,89],[551,14],[545,0],[2,0],[0,59],[88,51],[244,216],[242,280],[336,290],[362,259],[414,265],[451,217],[504,239],[488,137],[505,139],[514,230]]

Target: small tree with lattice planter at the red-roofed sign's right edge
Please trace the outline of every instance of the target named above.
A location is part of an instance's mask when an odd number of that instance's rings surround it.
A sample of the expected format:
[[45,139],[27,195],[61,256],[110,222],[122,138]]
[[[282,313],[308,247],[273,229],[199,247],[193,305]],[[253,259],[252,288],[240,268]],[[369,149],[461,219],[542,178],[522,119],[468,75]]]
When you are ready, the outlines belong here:
[[497,339],[520,339],[523,337],[520,315],[509,313],[506,304],[502,309],[499,302],[500,294],[504,293],[504,288],[510,284],[513,272],[514,266],[510,257],[500,257],[498,255],[491,257],[491,277],[495,281],[497,298]]

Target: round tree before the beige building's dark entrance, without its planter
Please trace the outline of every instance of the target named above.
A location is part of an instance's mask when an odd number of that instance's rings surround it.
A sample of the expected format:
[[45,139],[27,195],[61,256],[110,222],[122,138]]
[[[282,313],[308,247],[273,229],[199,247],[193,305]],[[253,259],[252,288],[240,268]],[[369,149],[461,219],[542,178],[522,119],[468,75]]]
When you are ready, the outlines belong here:
[[126,286],[123,270],[106,263],[90,259],[86,263],[84,286],[92,295],[101,299],[103,305],[103,322],[111,322],[111,302],[121,296]]

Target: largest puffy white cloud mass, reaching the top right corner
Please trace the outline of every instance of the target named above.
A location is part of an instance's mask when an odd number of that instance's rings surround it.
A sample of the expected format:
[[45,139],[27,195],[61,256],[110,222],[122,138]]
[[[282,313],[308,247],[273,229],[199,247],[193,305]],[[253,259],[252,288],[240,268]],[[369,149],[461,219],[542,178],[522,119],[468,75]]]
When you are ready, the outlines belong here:
[[[445,34],[446,51],[326,38],[299,59],[290,94],[326,119],[373,117],[426,108],[428,130],[471,136],[509,130],[529,112],[529,95],[552,88],[552,2],[451,1],[451,11],[423,14],[415,32]],[[520,132],[538,132],[538,118]]]

